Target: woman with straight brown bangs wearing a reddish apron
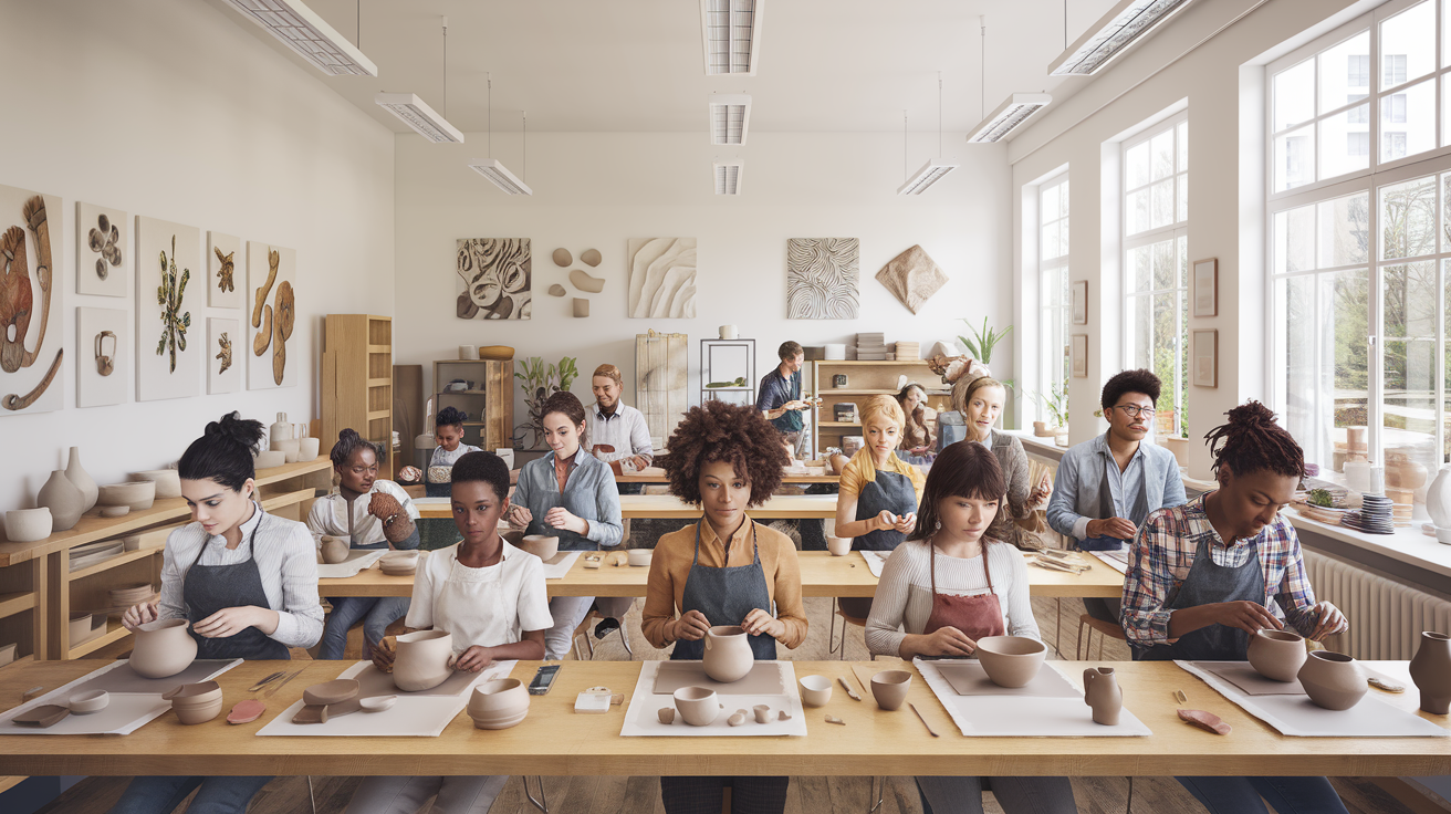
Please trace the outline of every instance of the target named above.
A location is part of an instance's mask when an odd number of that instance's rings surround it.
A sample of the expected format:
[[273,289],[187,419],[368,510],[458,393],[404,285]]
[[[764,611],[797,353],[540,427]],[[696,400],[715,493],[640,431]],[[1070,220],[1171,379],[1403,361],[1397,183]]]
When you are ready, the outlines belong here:
[[[971,657],[987,636],[1037,638],[1027,566],[1013,546],[987,537],[1007,493],[987,447],[958,441],[927,473],[917,528],[882,567],[866,647],[874,654]],[[917,778],[937,814],[981,814],[987,778]],[[1075,814],[1068,778],[991,778],[1007,814]]]

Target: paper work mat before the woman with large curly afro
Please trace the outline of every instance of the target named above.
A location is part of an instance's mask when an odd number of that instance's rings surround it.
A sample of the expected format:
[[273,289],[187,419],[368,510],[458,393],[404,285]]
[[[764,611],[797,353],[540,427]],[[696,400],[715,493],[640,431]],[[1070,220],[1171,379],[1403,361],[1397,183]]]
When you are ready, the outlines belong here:
[[[772,736],[805,736],[807,720],[801,708],[801,698],[795,692],[763,694],[763,695],[720,695],[721,711],[708,727],[692,727],[676,714],[673,724],[660,723],[660,710],[675,710],[675,699],[669,695],[656,695],[650,691],[654,686],[656,673],[662,665],[669,662],[643,662],[640,681],[636,682],[634,694],[630,696],[630,707],[625,710],[625,723],[620,728],[621,737],[772,737]],[[781,665],[781,678],[786,686],[795,688],[797,672],[791,662],[763,662]],[[765,724],[756,723],[752,707],[765,704],[770,707],[770,720]],[[733,727],[727,718],[737,710],[746,711],[746,723]],[[778,720],[781,711],[791,715],[789,721]]]

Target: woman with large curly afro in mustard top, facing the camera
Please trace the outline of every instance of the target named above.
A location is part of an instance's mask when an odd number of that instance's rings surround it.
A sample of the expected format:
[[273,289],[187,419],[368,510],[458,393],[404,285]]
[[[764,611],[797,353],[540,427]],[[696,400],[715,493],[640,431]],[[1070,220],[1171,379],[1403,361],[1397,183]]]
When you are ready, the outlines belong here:
[[[801,567],[791,538],[746,517],[781,485],[786,451],[778,432],[749,405],[705,402],[691,408],[667,444],[670,493],[698,505],[695,525],[660,537],[650,560],[641,628],[670,659],[701,659],[705,631],[740,625],[756,659],[775,659],[776,643],[807,637]],[[721,810],[726,778],[660,778],[669,814]],[[789,778],[734,778],[734,811],[784,811]]]

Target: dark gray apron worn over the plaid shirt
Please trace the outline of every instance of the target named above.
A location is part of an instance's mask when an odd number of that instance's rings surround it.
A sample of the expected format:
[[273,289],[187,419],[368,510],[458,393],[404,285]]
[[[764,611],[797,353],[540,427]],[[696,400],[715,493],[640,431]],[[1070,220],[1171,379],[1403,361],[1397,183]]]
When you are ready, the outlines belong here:
[[[1194,550],[1194,564],[1180,585],[1178,593],[1170,599],[1167,609],[1180,611],[1199,605],[1213,605],[1216,602],[1254,602],[1262,605],[1265,601],[1265,575],[1259,567],[1259,546],[1254,546],[1254,556],[1239,567],[1214,564],[1210,556],[1214,534],[1200,535],[1199,547]],[[1135,662],[1170,662],[1183,659],[1185,662],[1244,662],[1248,659],[1249,634],[1238,627],[1212,624],[1178,637],[1174,644],[1155,644],[1152,647],[1132,646]]]

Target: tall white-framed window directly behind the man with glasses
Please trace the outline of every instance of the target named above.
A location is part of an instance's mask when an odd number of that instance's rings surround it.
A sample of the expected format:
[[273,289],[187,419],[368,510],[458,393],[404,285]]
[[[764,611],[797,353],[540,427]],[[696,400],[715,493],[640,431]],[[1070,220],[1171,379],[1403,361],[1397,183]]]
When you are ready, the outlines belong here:
[[1123,142],[1125,366],[1164,383],[1155,427],[1188,434],[1188,113]]

